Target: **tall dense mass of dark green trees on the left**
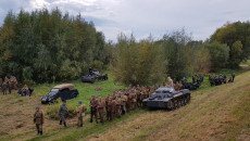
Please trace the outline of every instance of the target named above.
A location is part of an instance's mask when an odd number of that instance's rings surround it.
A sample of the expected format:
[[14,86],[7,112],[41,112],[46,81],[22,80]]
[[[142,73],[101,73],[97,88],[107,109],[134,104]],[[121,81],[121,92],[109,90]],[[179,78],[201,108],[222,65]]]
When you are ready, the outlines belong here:
[[108,55],[104,35],[59,9],[9,12],[0,28],[0,74],[22,81],[76,79]]

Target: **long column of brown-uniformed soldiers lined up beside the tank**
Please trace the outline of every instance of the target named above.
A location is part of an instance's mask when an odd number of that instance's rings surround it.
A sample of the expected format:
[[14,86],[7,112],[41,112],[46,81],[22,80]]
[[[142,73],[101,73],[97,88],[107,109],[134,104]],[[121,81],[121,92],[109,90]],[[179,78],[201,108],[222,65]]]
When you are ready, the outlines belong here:
[[[129,86],[127,89],[113,90],[112,94],[108,93],[103,99],[101,95],[98,99],[92,95],[90,100],[90,123],[112,121],[115,117],[120,118],[125,113],[142,107],[142,100],[149,98],[150,93],[155,91],[157,87],[136,87]],[[104,114],[105,113],[105,114]]]

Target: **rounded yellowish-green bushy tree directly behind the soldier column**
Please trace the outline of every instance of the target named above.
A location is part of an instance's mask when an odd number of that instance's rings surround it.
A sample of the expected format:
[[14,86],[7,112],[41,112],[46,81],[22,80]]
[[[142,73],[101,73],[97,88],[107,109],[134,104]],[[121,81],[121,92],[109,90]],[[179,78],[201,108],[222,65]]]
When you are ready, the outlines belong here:
[[114,80],[125,85],[152,85],[161,81],[164,60],[160,46],[149,37],[136,42],[135,38],[118,36],[111,72]]

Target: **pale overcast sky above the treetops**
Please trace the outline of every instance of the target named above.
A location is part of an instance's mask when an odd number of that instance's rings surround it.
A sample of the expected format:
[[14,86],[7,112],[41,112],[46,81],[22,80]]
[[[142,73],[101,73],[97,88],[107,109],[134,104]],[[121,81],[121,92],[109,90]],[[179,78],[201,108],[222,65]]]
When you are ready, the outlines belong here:
[[158,39],[183,27],[195,40],[205,40],[226,22],[250,20],[250,0],[0,0],[0,26],[10,10],[57,7],[71,15],[80,13],[114,41],[120,33]]

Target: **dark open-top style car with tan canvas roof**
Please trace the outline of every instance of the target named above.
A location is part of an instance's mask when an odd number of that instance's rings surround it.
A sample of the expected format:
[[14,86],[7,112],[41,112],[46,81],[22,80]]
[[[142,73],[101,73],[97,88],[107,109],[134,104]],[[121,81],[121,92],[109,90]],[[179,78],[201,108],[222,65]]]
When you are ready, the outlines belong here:
[[63,84],[53,87],[47,95],[41,97],[41,103],[54,103],[59,98],[62,101],[78,97],[79,92],[72,84]]

